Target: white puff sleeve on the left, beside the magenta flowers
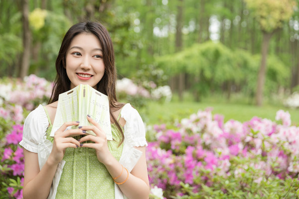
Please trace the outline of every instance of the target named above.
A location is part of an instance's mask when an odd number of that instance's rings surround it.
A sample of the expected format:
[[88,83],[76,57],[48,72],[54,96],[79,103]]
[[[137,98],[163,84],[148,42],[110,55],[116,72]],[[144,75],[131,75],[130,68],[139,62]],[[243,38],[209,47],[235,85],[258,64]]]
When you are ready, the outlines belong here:
[[48,125],[47,115],[42,105],[39,105],[26,117],[23,127],[23,138],[19,144],[26,150],[37,153],[38,144],[44,136]]

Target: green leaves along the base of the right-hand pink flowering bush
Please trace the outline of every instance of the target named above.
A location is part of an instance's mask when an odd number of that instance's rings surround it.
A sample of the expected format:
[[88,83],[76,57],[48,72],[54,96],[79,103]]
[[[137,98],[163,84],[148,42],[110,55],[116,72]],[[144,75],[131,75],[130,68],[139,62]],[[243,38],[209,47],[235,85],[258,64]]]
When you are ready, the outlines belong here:
[[[231,169],[238,170],[238,165],[250,165],[252,159],[234,157]],[[234,169],[235,168],[235,169]],[[219,169],[219,168],[218,168]],[[261,171],[254,167],[244,168],[246,172],[240,176],[231,174],[228,177],[213,176],[211,185],[201,183],[201,177],[196,181],[199,188],[190,187],[181,183],[183,192],[188,196],[176,196],[175,199],[294,199],[298,197],[299,179],[287,178],[286,180],[277,177],[262,178]]]

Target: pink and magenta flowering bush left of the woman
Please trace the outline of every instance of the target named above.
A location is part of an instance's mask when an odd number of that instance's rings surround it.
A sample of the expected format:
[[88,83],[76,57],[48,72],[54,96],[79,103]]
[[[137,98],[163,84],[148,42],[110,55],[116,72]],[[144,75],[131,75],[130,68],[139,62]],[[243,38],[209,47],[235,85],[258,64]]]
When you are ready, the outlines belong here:
[[52,84],[30,75],[23,81],[0,80],[0,196],[22,198],[24,160],[22,139],[23,122],[30,110],[49,100]]

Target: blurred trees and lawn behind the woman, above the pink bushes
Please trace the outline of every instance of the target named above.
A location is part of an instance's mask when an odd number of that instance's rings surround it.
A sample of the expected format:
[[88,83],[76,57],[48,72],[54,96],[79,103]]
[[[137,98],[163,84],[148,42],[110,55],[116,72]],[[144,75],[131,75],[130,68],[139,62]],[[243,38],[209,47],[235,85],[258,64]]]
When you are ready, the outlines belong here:
[[0,0],[0,77],[53,81],[67,29],[97,20],[114,42],[119,79],[127,78],[119,87],[148,91],[121,100],[150,123],[207,106],[226,120],[274,118],[279,108],[299,120],[290,109],[299,106],[298,2]]

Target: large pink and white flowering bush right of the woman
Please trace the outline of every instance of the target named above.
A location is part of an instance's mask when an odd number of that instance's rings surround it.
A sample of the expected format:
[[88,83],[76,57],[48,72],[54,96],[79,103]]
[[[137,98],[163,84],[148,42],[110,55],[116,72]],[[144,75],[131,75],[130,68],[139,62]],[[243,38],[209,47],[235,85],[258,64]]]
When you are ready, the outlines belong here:
[[174,129],[154,126],[157,141],[147,147],[151,186],[166,198],[298,197],[299,127],[283,110],[276,119],[224,123],[206,109]]

